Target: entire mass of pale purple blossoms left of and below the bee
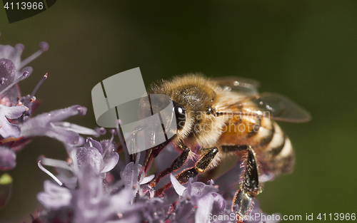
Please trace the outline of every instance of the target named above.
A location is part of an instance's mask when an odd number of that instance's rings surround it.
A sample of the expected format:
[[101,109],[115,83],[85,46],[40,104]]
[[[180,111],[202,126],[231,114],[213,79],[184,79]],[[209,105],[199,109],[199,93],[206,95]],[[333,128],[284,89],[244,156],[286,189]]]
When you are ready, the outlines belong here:
[[[44,192],[37,196],[44,209],[37,212],[32,222],[237,222],[236,214],[231,211],[231,198],[236,190],[220,177],[216,184],[213,180],[197,182],[197,178],[180,185],[174,175],[170,175],[168,187],[162,193],[149,187],[154,175],[146,176],[140,163],[140,153],[135,162],[124,162],[119,153],[127,152],[121,138],[119,126],[110,130],[109,140],[97,141],[84,135],[104,135],[104,128],[91,130],[64,120],[73,115],[85,115],[86,108],[74,105],[32,117],[38,105],[34,94],[46,75],[34,88],[31,95],[21,97],[17,83],[27,78],[32,68],[25,67],[29,61],[46,51],[47,43],[40,43],[41,49],[21,61],[21,44],[0,45],[0,170],[16,166],[16,152],[26,142],[36,136],[48,136],[64,143],[69,158],[66,161],[39,157],[39,167],[53,180],[44,182]],[[116,145],[114,136],[121,142]],[[120,150],[120,151],[119,151]],[[174,157],[174,150],[163,150],[168,157]],[[126,155],[128,155],[126,153]],[[156,174],[169,166],[167,160],[154,163]],[[56,167],[55,176],[44,166]],[[235,176],[238,170],[233,170]],[[254,202],[251,214],[261,214],[258,202]],[[226,218],[228,216],[228,218]],[[261,215],[263,216],[263,215]],[[233,217],[233,219],[232,219]],[[244,222],[261,222],[262,218],[246,219]],[[274,221],[266,221],[274,222]]]

